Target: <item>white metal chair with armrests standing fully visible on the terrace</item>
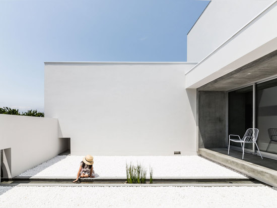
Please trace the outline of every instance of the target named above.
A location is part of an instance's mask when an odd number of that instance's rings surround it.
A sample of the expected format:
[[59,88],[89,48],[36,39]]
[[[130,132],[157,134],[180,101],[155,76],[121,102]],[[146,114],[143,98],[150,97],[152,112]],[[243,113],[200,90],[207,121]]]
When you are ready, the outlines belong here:
[[[243,156],[244,156],[244,144],[245,143],[255,143],[256,146],[257,146],[257,149],[260,153],[260,150],[259,150],[259,147],[256,143],[257,141],[257,138],[258,138],[258,134],[259,134],[259,130],[258,129],[255,129],[255,128],[250,128],[250,129],[247,129],[244,136],[242,137],[242,139],[240,138],[239,135],[235,135],[235,134],[230,134],[229,135],[229,147],[228,147],[228,154],[229,154],[229,150],[230,150],[230,141],[233,141],[233,142],[239,142],[241,144],[241,148],[242,148],[242,160],[243,160]],[[239,139],[231,139],[231,136],[232,137],[239,137]],[[242,145],[243,143],[243,145]],[[260,156],[261,156],[261,153],[260,153]],[[262,157],[261,157],[262,159]]]

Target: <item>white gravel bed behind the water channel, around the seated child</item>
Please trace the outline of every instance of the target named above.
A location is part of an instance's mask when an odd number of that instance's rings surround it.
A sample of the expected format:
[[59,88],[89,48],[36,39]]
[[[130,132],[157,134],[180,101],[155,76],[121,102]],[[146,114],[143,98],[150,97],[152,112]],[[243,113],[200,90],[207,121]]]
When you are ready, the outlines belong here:
[[[76,177],[81,156],[60,155],[19,176]],[[102,177],[125,177],[126,162],[153,168],[153,177],[242,177],[243,175],[198,156],[95,156],[94,170]]]

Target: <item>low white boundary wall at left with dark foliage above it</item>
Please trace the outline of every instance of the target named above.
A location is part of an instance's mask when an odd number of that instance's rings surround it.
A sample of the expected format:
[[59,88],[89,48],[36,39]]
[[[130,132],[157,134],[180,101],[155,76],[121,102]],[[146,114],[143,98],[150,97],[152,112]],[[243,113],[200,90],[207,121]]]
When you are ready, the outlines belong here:
[[11,148],[12,177],[66,150],[57,128],[57,119],[0,114],[0,149]]

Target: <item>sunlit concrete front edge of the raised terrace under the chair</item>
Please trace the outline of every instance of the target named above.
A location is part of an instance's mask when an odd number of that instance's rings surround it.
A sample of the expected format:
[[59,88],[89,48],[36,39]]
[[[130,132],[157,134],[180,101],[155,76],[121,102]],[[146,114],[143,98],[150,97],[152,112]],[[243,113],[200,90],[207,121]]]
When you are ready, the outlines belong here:
[[198,153],[207,159],[246,174],[256,180],[277,187],[277,171],[249,163],[237,158],[205,148],[199,148]]

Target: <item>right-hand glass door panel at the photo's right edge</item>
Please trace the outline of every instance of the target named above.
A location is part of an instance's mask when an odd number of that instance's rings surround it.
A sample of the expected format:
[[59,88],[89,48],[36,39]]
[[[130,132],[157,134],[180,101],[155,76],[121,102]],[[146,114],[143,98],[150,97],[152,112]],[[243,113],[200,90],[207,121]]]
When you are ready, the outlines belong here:
[[256,85],[256,120],[259,149],[277,153],[277,79]]

